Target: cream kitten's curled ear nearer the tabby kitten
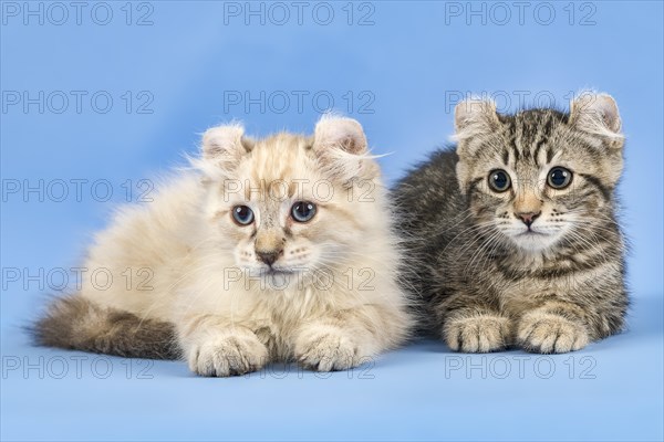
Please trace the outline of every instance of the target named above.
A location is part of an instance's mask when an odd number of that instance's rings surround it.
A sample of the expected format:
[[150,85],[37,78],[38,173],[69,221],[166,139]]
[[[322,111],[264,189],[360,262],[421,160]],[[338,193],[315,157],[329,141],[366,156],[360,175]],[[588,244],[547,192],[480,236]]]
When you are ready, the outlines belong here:
[[377,171],[367,161],[369,146],[362,125],[355,119],[323,116],[315,125],[312,149],[331,178],[347,181],[371,179]]

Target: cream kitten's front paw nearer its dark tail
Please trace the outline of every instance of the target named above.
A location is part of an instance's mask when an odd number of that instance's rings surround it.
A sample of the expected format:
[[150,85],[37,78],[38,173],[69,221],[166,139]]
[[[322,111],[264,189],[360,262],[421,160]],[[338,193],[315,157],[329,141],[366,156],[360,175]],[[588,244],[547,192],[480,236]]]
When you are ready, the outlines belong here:
[[237,376],[260,370],[268,348],[250,330],[229,332],[195,345],[188,351],[189,368],[201,376]]

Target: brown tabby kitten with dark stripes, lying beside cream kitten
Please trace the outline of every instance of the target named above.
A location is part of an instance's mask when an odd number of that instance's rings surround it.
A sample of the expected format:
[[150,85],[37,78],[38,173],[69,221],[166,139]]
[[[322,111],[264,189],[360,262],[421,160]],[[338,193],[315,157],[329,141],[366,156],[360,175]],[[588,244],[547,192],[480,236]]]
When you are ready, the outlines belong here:
[[627,308],[615,218],[623,167],[613,98],[569,114],[455,109],[443,149],[396,187],[427,328],[459,351],[564,352],[621,330]]

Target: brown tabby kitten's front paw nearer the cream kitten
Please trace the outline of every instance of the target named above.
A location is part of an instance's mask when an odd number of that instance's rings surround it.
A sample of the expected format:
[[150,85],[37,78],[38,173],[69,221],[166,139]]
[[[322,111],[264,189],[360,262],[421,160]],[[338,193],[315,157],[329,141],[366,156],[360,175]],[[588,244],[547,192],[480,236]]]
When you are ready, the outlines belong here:
[[510,322],[497,315],[450,318],[445,324],[443,336],[455,351],[496,351],[509,345]]

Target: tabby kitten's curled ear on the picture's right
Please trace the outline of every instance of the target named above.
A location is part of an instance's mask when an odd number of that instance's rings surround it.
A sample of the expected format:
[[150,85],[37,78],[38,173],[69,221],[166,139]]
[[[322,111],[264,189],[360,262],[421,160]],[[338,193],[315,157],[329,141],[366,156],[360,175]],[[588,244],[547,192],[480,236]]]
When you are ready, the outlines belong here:
[[[582,92],[570,104],[570,124],[579,130],[620,141],[622,122],[615,99],[609,94]],[[618,143],[616,147],[621,147]]]

